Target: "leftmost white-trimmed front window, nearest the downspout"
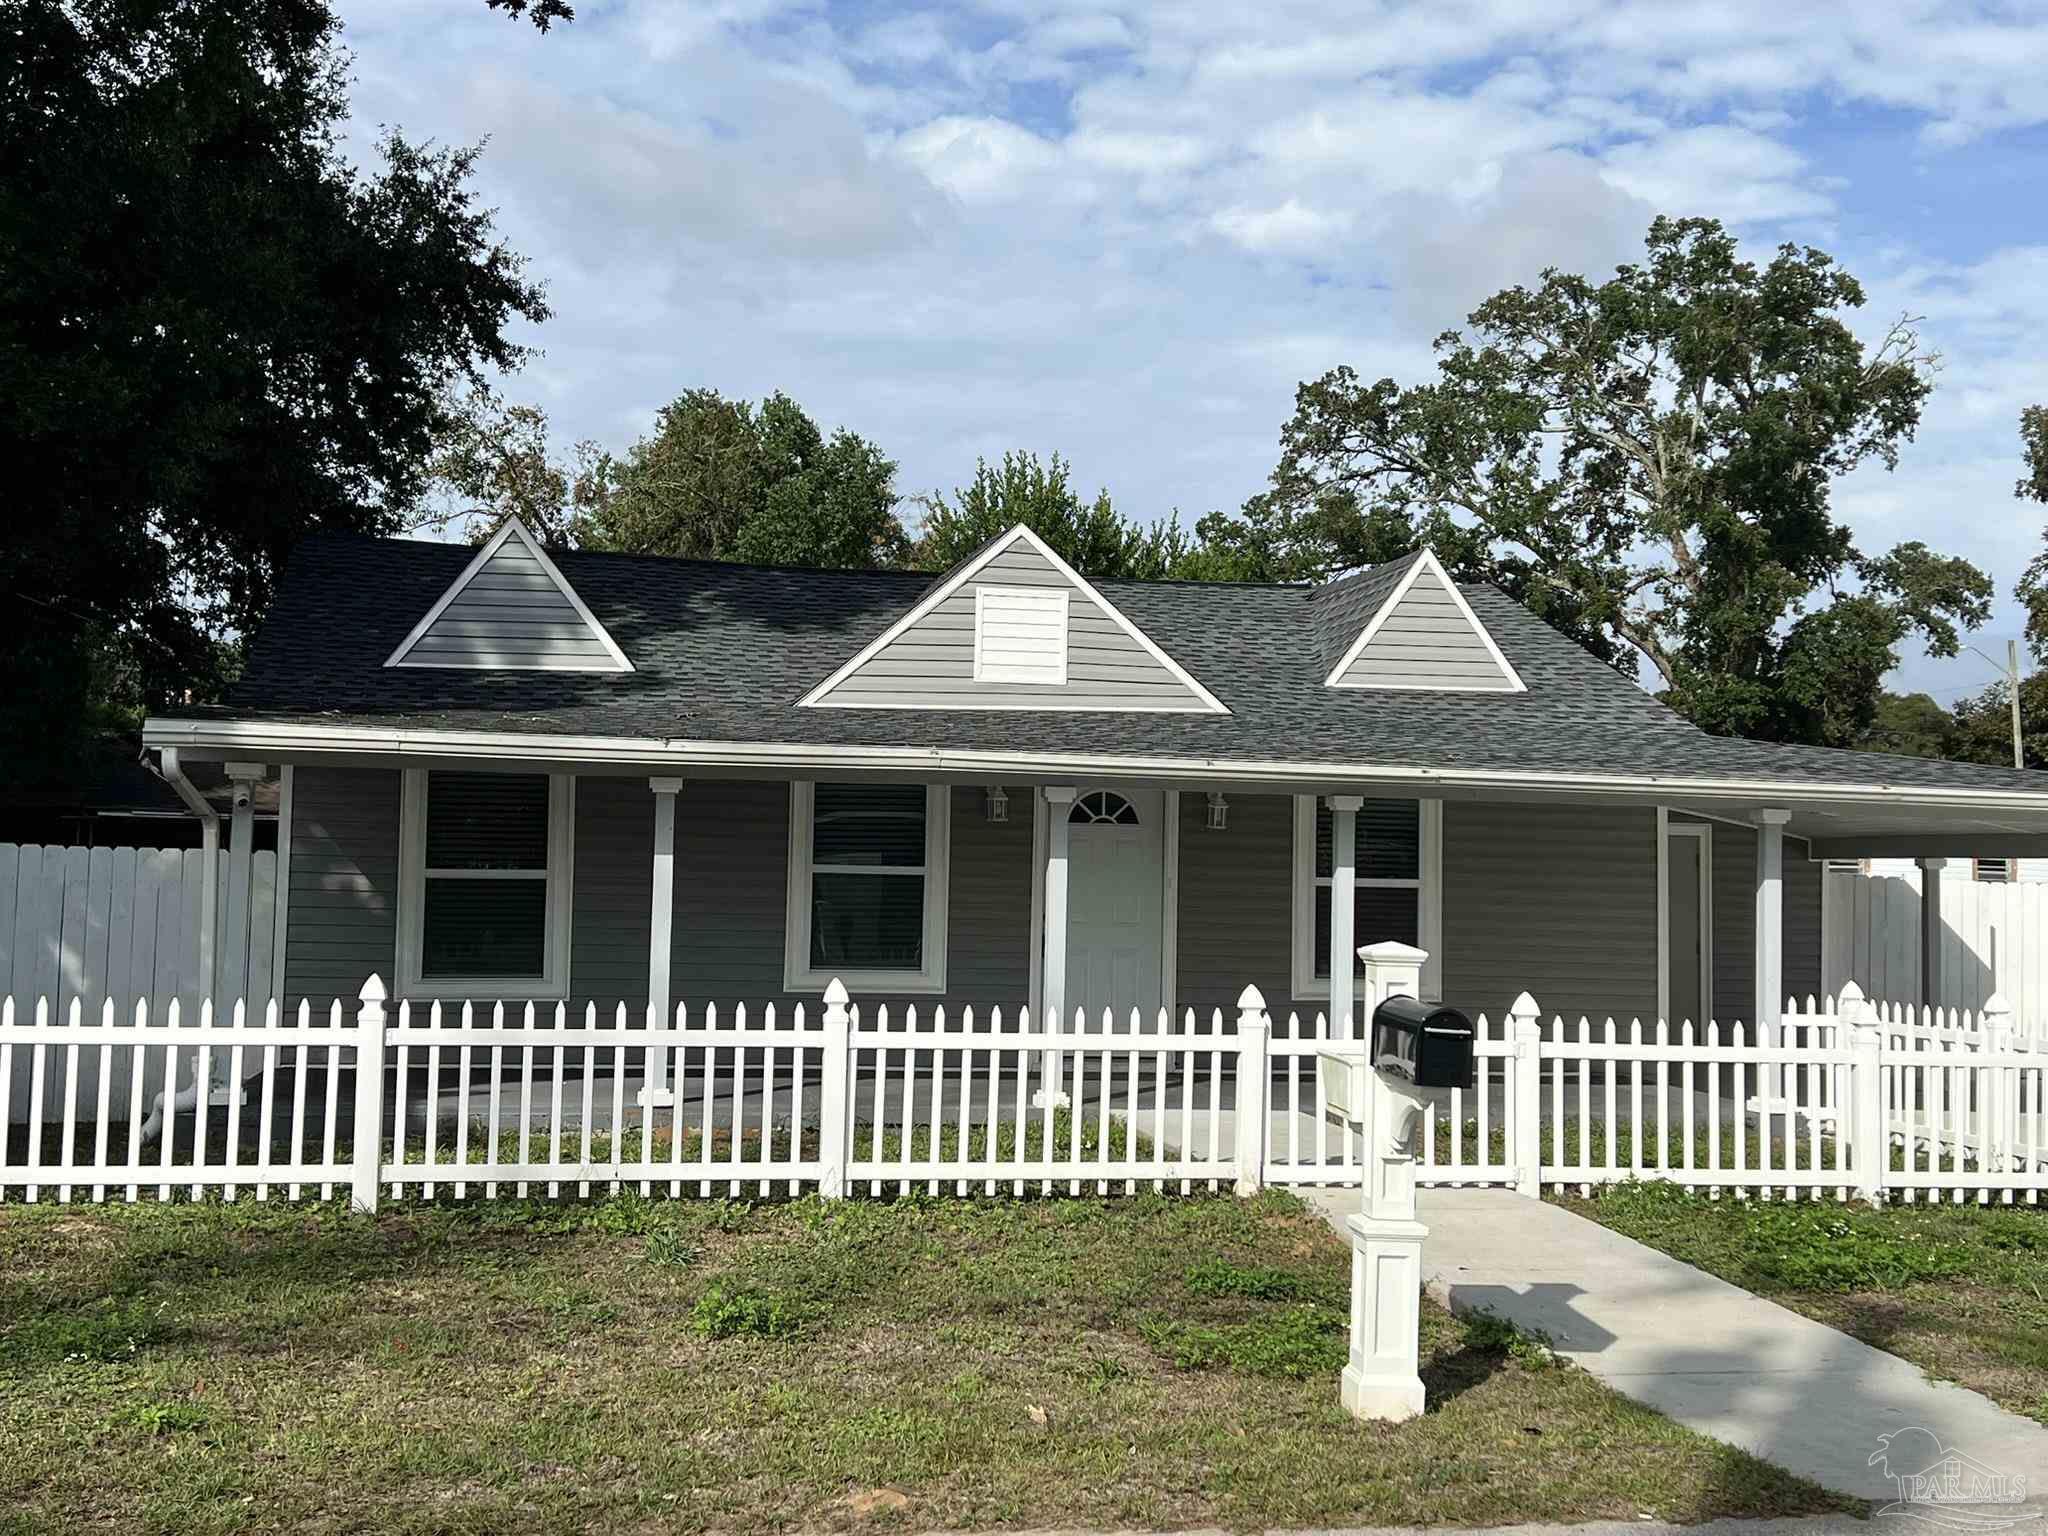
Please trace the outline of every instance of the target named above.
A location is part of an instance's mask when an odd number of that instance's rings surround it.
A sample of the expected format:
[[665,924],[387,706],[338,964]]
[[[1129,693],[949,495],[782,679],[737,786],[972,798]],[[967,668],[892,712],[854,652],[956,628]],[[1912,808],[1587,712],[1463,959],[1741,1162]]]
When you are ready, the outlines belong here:
[[563,997],[569,774],[408,768],[399,809],[399,991]]

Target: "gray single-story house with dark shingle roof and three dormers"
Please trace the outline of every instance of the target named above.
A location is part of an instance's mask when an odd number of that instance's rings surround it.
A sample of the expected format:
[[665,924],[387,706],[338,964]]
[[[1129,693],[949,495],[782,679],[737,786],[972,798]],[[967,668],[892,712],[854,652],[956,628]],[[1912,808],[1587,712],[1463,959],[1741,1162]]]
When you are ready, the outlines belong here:
[[1286,1028],[1397,938],[1493,1018],[1772,1026],[1821,860],[2048,854],[2036,774],[1706,735],[1427,551],[1087,582],[1022,526],[940,578],[315,537],[231,702],[145,743],[281,782],[254,942],[319,1008],[842,977],[1126,1028],[1253,983]]

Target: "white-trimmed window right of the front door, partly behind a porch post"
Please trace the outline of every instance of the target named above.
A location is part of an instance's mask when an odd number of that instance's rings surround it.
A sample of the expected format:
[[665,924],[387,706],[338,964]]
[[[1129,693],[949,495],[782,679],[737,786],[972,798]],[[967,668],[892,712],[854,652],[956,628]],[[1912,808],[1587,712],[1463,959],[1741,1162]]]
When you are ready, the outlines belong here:
[[[1425,989],[1442,985],[1442,801],[1364,801],[1354,829],[1352,946],[1397,940],[1430,950]],[[1321,797],[1294,797],[1296,997],[1329,995],[1333,827]]]

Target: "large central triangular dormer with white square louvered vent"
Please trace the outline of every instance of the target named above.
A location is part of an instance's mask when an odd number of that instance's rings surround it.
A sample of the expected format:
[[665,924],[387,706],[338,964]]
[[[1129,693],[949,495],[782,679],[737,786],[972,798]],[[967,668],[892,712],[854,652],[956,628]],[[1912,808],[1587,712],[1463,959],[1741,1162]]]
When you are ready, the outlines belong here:
[[1022,522],[963,561],[801,702],[1229,715]]

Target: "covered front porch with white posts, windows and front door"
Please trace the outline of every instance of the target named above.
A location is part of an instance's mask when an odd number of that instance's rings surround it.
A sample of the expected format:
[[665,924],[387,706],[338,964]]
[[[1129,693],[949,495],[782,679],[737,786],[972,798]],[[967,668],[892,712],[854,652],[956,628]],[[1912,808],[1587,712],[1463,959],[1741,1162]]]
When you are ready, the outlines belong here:
[[[1204,1022],[1257,985],[1276,1028],[1358,1024],[1329,954],[1399,940],[1423,991],[1499,1016],[1765,1030],[1819,975],[1821,858],[1896,848],[1878,807],[1645,788],[1243,778],[629,774],[469,758],[236,762],[276,774],[287,1006],[369,973],[420,1001],[678,1008],[815,999],[1026,1008],[1087,1028]],[[602,768],[602,770],[592,770]],[[1434,788],[1436,793],[1419,793]],[[1851,821],[1864,821],[1858,829]],[[1882,829],[1882,831],[1880,831]],[[250,838],[227,827],[229,883]],[[1915,834],[2011,848],[1982,827]],[[1882,840],[1882,842],[1880,842]],[[236,905],[236,903],[229,903]],[[1937,915],[1929,915],[1929,924]],[[1057,940],[1053,936],[1059,936]],[[1288,1018],[1296,1024],[1290,1026]]]

